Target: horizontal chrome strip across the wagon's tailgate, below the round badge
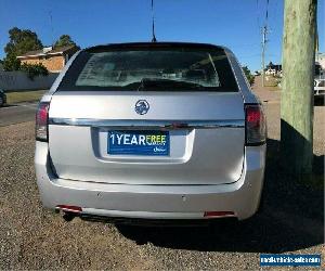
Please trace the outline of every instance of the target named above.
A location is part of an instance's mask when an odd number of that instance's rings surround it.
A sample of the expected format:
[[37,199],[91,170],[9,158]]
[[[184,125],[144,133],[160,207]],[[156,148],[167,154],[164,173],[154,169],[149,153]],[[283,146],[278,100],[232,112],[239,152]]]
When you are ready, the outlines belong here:
[[108,127],[120,129],[213,129],[244,128],[244,119],[230,120],[119,120],[93,118],[49,118],[49,125]]

